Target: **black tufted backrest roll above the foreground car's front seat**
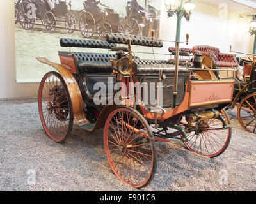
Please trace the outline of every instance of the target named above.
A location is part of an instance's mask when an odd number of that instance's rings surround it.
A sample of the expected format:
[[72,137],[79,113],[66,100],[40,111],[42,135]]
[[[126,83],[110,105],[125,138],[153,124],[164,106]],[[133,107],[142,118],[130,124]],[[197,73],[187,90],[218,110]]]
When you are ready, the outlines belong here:
[[119,34],[119,33],[107,33],[106,41],[108,43],[120,43],[127,44],[127,38],[131,39],[131,45],[142,45],[148,47],[163,47],[163,40],[143,37],[143,36],[134,36],[127,34]]

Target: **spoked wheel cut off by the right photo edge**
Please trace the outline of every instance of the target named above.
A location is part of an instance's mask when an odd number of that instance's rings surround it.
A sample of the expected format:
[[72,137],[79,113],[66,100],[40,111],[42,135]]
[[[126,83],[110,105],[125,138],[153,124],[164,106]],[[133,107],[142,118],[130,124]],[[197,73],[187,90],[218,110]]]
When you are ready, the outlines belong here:
[[256,93],[241,100],[237,108],[237,118],[243,129],[256,133]]

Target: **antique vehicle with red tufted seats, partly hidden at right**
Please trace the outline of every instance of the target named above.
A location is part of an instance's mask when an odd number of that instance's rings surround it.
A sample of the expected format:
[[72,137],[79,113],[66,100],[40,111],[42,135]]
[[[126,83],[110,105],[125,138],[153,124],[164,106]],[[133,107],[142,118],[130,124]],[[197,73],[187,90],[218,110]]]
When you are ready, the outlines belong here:
[[[198,50],[202,52],[198,52]],[[235,85],[232,104],[226,109],[237,107],[239,124],[241,124],[244,130],[256,133],[256,56],[243,52],[234,52],[231,46],[230,52],[249,55],[249,57],[236,57],[234,54],[218,54],[218,49],[208,46],[193,47],[193,52],[195,55],[202,54],[202,68],[209,70],[207,73],[205,71],[198,71],[198,78],[208,80],[234,78]],[[212,71],[213,69],[214,71]],[[225,69],[232,69],[233,73],[225,71]]]

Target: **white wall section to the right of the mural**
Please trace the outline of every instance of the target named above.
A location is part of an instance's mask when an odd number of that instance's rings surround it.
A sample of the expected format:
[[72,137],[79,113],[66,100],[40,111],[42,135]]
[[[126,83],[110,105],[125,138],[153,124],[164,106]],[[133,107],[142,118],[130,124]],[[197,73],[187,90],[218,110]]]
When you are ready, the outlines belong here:
[[[196,0],[195,11],[190,22],[182,18],[180,40],[186,40],[189,33],[189,45],[180,47],[192,48],[194,45],[211,45],[220,48],[220,52],[232,50],[252,53],[254,36],[250,36],[249,24],[251,18],[241,18],[238,13],[228,11],[227,18],[221,15],[223,11],[214,6],[200,3]],[[239,6],[239,4],[237,4]],[[255,11],[256,13],[256,11]],[[160,38],[175,40],[177,17],[166,18],[166,8],[162,0]],[[174,46],[174,43],[170,44]],[[166,48],[162,48],[166,51]]]

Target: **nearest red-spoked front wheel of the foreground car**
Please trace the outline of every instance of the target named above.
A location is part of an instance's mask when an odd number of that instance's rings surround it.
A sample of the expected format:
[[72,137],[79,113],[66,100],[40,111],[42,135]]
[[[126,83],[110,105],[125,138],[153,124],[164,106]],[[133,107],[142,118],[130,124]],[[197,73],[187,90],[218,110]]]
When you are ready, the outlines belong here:
[[154,177],[154,139],[147,120],[138,111],[119,106],[110,113],[104,128],[104,147],[118,179],[140,188]]

